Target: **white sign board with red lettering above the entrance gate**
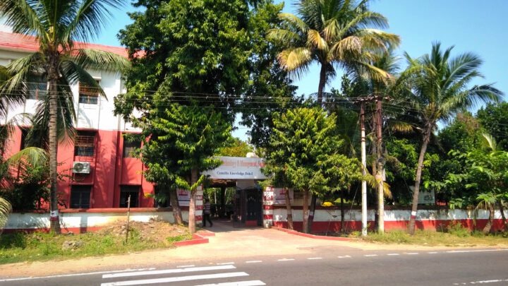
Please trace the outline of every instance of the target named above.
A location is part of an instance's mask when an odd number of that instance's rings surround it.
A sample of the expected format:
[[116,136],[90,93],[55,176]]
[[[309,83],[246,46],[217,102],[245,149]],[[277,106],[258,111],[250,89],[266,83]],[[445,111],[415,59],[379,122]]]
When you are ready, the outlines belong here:
[[202,173],[210,176],[210,179],[267,179],[261,172],[261,168],[265,167],[262,158],[225,156],[216,158],[222,160],[222,165]]

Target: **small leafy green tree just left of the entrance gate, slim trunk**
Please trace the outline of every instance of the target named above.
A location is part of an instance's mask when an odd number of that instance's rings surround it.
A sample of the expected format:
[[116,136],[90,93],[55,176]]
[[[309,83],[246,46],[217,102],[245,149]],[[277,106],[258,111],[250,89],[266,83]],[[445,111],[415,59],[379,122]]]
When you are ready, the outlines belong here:
[[141,148],[148,180],[171,189],[191,191],[188,227],[195,232],[195,193],[205,182],[201,173],[222,162],[212,156],[230,140],[231,125],[212,107],[173,104],[135,121],[150,140]]

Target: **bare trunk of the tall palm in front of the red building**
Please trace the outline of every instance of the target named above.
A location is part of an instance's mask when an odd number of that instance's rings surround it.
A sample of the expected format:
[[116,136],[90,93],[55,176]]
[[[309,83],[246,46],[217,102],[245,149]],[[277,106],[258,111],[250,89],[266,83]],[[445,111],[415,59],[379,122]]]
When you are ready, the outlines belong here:
[[49,79],[49,220],[51,223],[51,231],[60,234],[60,218],[58,210],[58,174],[57,167],[58,161],[56,155],[58,154],[58,138],[57,138],[57,112],[58,112],[58,78],[59,73],[57,70],[58,58],[56,56],[49,57],[48,79]]

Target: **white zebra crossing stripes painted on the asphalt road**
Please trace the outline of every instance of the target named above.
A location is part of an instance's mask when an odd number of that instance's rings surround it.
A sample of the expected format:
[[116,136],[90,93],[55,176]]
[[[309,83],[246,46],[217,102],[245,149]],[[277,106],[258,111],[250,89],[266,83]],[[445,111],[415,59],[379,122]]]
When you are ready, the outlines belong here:
[[[248,273],[245,272],[227,272],[221,273],[224,270],[236,269],[234,265],[228,263],[227,265],[219,265],[219,266],[202,266],[202,267],[187,267],[187,268],[171,268],[171,269],[162,269],[162,270],[141,270],[141,271],[131,271],[124,273],[107,273],[102,275],[103,279],[112,279],[112,278],[131,278],[136,277],[137,280],[123,280],[123,281],[114,281],[114,282],[104,282],[101,286],[123,286],[123,285],[149,285],[149,284],[157,284],[157,283],[170,283],[170,282],[181,282],[181,281],[192,281],[192,280],[209,280],[214,279],[218,280],[221,278],[236,278],[236,277],[244,277],[249,276]],[[188,275],[188,276],[176,276],[176,277],[164,277],[164,275],[175,275],[181,273],[193,273],[199,271],[214,271],[214,273],[206,273],[201,275]],[[152,275],[158,275],[158,277],[153,277]],[[140,276],[144,276],[143,279],[140,279]],[[152,276],[152,278],[150,278]],[[204,284],[206,286],[210,285],[218,285],[218,286],[258,286],[258,285],[266,285],[265,282],[261,280],[243,280],[243,281],[231,281],[235,279],[228,279],[228,282],[219,282],[217,284]],[[110,280],[111,281],[111,280]],[[202,286],[204,286],[202,285]]]

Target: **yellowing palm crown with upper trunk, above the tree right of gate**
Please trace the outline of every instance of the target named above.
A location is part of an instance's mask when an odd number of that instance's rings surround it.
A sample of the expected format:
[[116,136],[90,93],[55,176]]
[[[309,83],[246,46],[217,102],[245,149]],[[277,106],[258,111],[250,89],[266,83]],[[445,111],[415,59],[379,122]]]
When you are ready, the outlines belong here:
[[286,71],[301,76],[308,66],[320,64],[317,103],[321,104],[326,83],[335,76],[335,67],[362,66],[380,78],[385,71],[369,64],[374,52],[399,44],[399,36],[377,30],[387,28],[387,19],[368,11],[370,0],[301,0],[297,12],[281,13],[282,28],[268,32],[271,40],[285,49],[278,59]]

